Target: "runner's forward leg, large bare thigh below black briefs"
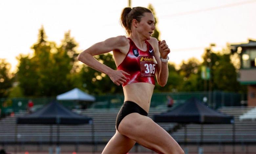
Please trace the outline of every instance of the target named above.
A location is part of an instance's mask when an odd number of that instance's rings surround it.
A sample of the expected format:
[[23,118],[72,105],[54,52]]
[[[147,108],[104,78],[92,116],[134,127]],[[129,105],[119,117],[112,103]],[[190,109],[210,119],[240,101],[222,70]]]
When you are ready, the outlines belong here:
[[120,134],[163,154],[184,154],[180,145],[149,117],[131,113],[119,124]]

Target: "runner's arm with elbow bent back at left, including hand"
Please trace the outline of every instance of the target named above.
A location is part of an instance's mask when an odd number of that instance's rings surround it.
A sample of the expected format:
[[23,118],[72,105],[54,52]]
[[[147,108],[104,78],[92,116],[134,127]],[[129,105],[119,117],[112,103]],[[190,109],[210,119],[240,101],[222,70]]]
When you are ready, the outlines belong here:
[[107,53],[113,50],[121,50],[129,44],[129,40],[125,36],[117,36],[109,38],[103,42],[98,42],[90,48],[84,50],[78,55],[78,60],[102,73],[107,74],[110,79],[116,84],[121,85],[126,82],[126,77],[123,74],[130,75],[123,70],[114,70],[104,64],[98,62],[93,56]]

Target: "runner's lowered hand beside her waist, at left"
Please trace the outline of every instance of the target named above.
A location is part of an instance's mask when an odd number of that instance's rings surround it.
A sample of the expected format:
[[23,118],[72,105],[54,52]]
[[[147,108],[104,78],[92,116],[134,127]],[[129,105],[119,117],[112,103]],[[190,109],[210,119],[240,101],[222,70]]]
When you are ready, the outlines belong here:
[[127,80],[127,78],[124,76],[124,74],[130,75],[123,70],[113,70],[110,73],[108,73],[108,76],[117,86],[120,86],[120,85],[124,84]]

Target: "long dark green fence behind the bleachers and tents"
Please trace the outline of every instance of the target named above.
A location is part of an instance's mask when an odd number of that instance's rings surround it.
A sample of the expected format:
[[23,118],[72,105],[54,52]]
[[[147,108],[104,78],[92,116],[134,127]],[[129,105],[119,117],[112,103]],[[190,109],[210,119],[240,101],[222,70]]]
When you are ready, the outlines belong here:
[[[246,100],[246,94],[212,91],[212,92],[165,92],[154,93],[151,99],[151,107],[163,107],[167,105],[167,96],[171,96],[174,100],[174,106],[179,106],[191,97],[196,97],[200,101],[206,103],[209,107],[217,109],[221,106],[241,106],[241,101]],[[87,108],[119,108],[124,101],[123,94],[99,95],[95,96],[96,102],[86,103]],[[12,98],[0,99],[0,108],[2,114],[11,112],[19,112],[27,109],[27,103],[32,100],[34,110],[53,101],[54,97],[44,98]],[[62,105],[68,108],[76,108],[79,105],[77,101],[59,101]]]

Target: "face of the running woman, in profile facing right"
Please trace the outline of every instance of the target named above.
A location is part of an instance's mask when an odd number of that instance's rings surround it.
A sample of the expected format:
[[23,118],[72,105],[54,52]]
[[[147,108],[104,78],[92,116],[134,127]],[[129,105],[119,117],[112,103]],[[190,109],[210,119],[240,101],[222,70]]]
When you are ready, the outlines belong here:
[[155,17],[152,13],[145,12],[144,16],[140,19],[137,30],[146,40],[151,39],[151,35],[155,27]]

